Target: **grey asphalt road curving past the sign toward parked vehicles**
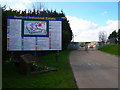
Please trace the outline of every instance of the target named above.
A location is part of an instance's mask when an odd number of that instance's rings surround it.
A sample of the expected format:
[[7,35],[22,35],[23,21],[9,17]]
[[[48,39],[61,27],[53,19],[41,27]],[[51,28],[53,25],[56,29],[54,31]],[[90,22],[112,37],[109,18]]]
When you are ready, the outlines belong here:
[[72,51],[70,65],[78,88],[118,88],[118,57],[95,49]]

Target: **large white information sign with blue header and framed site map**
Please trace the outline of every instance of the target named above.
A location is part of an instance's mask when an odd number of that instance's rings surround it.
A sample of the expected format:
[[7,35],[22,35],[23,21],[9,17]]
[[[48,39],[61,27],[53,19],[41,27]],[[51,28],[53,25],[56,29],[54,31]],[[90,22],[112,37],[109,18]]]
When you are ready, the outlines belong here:
[[61,50],[60,17],[8,15],[7,50]]

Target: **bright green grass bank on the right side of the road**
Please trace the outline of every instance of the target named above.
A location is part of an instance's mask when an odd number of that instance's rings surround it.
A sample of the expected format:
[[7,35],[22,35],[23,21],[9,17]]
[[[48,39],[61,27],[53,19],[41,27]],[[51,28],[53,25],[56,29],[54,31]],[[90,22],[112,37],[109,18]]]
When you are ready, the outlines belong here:
[[98,49],[100,51],[110,53],[113,55],[120,55],[120,51],[119,51],[118,47],[120,47],[120,45],[118,45],[118,44],[116,44],[116,45],[104,45],[104,46],[100,46]]

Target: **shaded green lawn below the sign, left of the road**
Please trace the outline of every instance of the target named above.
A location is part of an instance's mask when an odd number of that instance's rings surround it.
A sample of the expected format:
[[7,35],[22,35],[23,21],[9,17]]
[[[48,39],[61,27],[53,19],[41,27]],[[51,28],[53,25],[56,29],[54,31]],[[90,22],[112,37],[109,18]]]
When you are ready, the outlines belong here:
[[56,72],[25,76],[19,74],[13,63],[3,63],[3,88],[75,88],[70,70],[68,55],[71,50],[59,53],[58,62],[55,54],[41,56],[43,65],[54,67]]

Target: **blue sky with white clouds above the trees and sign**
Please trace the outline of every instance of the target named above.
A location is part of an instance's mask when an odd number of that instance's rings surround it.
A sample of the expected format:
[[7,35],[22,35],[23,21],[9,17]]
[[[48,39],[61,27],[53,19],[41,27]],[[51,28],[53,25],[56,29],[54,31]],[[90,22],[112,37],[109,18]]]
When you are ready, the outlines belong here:
[[[104,0],[105,1],[105,0]],[[1,6],[12,9],[39,8],[56,10],[65,13],[74,35],[74,42],[99,41],[99,32],[107,36],[118,30],[118,2],[32,2],[17,0],[17,2],[0,1]],[[73,41],[73,40],[72,40]]]

